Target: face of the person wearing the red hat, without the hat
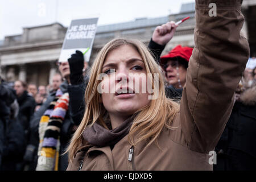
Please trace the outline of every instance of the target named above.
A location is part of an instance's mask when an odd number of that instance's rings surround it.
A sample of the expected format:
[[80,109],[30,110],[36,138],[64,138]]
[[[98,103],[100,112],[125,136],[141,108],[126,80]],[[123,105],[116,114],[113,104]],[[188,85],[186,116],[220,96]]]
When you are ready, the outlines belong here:
[[178,61],[168,60],[165,65],[166,77],[168,83],[175,88],[181,88],[185,85],[187,69],[179,65]]

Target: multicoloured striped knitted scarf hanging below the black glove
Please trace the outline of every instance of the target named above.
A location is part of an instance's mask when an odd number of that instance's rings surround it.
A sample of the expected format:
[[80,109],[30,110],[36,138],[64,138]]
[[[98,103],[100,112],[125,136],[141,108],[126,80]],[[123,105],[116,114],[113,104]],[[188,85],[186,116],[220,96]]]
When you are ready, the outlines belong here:
[[38,164],[36,171],[57,171],[60,149],[60,129],[68,110],[68,93],[57,90],[39,123]]

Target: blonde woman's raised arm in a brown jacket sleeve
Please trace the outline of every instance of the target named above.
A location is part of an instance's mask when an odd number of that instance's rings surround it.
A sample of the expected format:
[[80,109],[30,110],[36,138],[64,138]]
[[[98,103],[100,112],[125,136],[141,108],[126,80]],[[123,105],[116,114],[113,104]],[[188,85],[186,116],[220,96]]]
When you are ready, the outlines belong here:
[[[217,16],[209,15],[210,3]],[[240,34],[243,22],[241,0],[196,0],[195,48],[180,105],[181,129],[191,150],[213,150],[229,119],[249,57]]]

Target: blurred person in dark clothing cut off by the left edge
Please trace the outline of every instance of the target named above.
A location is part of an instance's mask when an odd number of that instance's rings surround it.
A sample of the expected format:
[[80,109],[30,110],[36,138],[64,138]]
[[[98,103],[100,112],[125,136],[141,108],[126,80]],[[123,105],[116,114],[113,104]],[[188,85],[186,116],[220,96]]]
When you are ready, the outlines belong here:
[[[24,130],[19,123],[18,102],[15,91],[5,84],[0,83],[0,133],[1,133],[1,171],[20,171],[22,154],[25,149]],[[2,139],[4,137],[4,139]]]

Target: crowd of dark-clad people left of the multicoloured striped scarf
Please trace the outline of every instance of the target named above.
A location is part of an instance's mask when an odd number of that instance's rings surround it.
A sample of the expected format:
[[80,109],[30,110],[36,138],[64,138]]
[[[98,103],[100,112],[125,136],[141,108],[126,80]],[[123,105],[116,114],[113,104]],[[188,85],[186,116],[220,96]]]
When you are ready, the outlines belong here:
[[26,150],[29,150],[27,146],[31,140],[32,118],[47,100],[47,97],[59,89],[61,82],[62,77],[59,73],[53,76],[51,89],[47,89],[44,85],[38,87],[36,84],[27,85],[26,82],[21,80],[15,82],[1,81],[1,85],[4,86],[3,90],[9,92],[12,95],[11,97],[14,98],[13,104],[11,104],[14,109],[10,109],[10,115],[12,115],[10,121],[9,119],[3,119],[5,123],[2,125],[4,128],[3,134],[5,134],[3,138],[5,140],[3,140],[3,150],[1,152],[1,170],[20,171],[25,169],[26,158],[24,158],[24,154]]

